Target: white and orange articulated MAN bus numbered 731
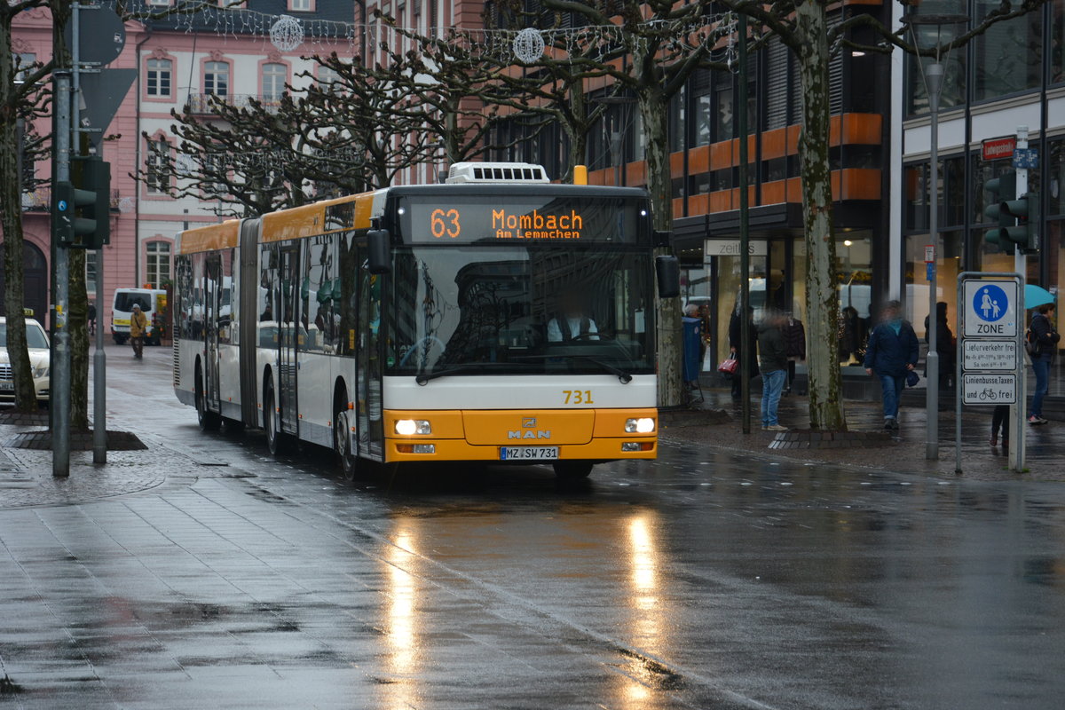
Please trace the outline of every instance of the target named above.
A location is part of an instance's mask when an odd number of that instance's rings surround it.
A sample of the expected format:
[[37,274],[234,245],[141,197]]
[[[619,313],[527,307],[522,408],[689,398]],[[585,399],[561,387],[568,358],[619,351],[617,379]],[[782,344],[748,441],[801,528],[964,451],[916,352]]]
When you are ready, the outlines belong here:
[[655,282],[641,189],[469,163],[182,232],[174,386],[204,429],[365,462],[656,456]]

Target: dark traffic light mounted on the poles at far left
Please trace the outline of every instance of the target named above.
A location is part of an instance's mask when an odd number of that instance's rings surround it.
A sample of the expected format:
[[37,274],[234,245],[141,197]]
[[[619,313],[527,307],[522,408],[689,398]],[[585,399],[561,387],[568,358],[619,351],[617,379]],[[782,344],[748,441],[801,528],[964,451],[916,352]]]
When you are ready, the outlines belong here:
[[111,164],[97,155],[70,160],[71,182],[52,188],[52,238],[63,247],[111,243]]

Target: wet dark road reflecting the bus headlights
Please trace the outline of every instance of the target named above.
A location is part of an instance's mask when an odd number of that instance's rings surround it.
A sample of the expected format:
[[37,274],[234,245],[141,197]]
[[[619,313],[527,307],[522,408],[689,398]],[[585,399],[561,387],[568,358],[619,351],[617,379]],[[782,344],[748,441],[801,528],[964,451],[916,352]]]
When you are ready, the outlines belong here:
[[169,352],[127,352],[114,424],[175,474],[0,510],[0,706],[1063,705],[1062,484],[668,444],[579,485],[346,486],[325,452],[200,434]]

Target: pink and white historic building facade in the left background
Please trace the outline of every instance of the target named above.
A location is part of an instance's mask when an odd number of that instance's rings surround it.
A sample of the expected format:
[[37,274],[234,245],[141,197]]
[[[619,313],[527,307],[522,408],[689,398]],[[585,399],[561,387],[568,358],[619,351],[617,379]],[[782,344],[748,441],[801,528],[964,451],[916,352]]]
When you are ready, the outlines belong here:
[[[146,4],[166,3],[151,0]],[[323,11],[324,5],[332,7]],[[280,52],[269,42],[268,27],[278,14],[302,21],[354,19],[348,3],[247,0],[240,7],[253,13],[249,15],[253,21],[235,22],[245,29],[243,32],[219,31],[217,20],[194,24],[192,31],[187,19],[157,21],[150,28],[141,22],[126,23],[126,46],[110,67],[135,68],[137,79],[105,130],[108,135],[116,137],[104,142],[102,148],[103,159],[111,163],[112,187],[111,244],[103,250],[103,294],[94,291],[94,252],[89,253],[86,282],[89,300],[97,303],[98,318],[104,327],[110,325],[115,288],[163,287],[173,276],[177,233],[190,226],[220,219],[216,214],[219,203],[209,195],[176,199],[166,194],[165,184],[146,184],[131,177],[150,163],[152,151],[168,150],[176,155],[170,111],[207,106],[208,94],[234,100],[247,96],[271,98],[280,95],[285,83],[291,82],[298,89],[301,82],[310,81],[295,77],[304,71],[314,73],[316,65],[300,59],[300,54],[310,54],[313,49],[301,46]],[[356,5],[354,13],[359,12]],[[23,63],[48,61],[52,55],[50,14],[44,10],[21,13],[15,22],[13,45]],[[346,45],[333,49],[343,53],[345,48]],[[206,114],[199,117],[210,118]],[[39,132],[50,132],[50,119],[39,127]],[[144,137],[145,134],[149,137]],[[44,162],[23,165],[23,170],[33,170],[44,180],[51,175],[51,166]],[[49,210],[48,187],[23,194],[22,224],[28,252],[26,306],[42,318],[49,303]]]

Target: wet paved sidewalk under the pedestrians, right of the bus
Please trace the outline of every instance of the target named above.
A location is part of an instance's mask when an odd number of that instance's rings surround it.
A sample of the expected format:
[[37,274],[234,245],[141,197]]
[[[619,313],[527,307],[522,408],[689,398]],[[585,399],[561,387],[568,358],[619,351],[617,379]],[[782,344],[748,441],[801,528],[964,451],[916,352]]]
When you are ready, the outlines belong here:
[[[759,419],[760,392],[757,382],[751,394],[751,433],[744,435],[741,427],[740,402],[726,390],[704,387],[705,409],[725,411],[728,420],[717,426],[670,427],[662,436],[678,442],[699,442],[727,450],[742,449],[769,457],[786,457],[802,461],[831,463],[836,466],[911,473],[932,476],[954,474],[954,412],[939,412],[939,459],[925,457],[927,419],[923,408],[903,407],[899,413],[900,431],[891,446],[869,449],[769,449],[774,433],[761,431]],[[806,397],[782,397],[781,423],[794,429],[809,427]],[[854,430],[880,431],[883,415],[880,402],[845,402],[848,427]],[[1028,473],[1014,474],[1009,466],[1006,452],[1001,446],[992,447],[990,408],[966,408],[962,415],[962,476],[970,480],[1038,480],[1065,481],[1065,424],[1028,427]]]

